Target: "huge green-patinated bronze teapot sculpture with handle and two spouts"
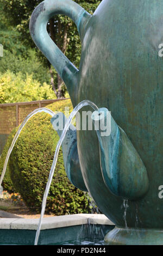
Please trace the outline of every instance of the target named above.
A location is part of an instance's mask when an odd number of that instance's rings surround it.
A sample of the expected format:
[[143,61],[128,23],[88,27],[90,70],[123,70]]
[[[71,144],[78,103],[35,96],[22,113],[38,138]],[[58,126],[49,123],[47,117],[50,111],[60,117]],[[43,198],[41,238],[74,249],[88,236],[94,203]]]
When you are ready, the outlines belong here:
[[[57,14],[78,28],[79,70],[47,33]],[[72,0],[45,0],[30,19],[30,34],[64,80],[73,106],[87,99],[106,115],[111,111],[110,136],[70,129],[70,141],[62,144],[68,178],[116,225],[105,236],[108,245],[163,244],[162,22],[161,0],[103,0],[93,15]],[[92,120],[96,126],[93,114]]]

